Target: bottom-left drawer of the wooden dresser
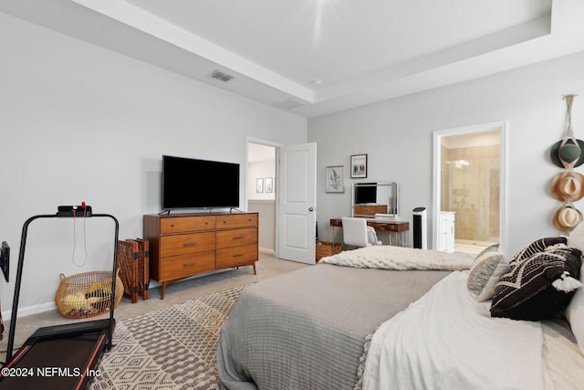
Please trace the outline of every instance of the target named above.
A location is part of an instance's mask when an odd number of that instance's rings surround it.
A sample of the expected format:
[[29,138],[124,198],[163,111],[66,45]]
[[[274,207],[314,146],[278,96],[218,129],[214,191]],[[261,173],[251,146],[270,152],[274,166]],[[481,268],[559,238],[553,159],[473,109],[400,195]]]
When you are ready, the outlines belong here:
[[201,252],[190,255],[162,258],[161,280],[182,279],[197,273],[215,269],[215,252]]

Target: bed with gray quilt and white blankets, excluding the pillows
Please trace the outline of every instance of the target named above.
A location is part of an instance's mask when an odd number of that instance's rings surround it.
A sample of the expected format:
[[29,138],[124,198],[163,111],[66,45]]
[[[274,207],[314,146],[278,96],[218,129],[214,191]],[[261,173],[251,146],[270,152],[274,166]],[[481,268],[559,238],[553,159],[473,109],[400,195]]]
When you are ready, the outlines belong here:
[[[227,389],[569,389],[569,323],[492,318],[471,255],[373,247],[246,288],[217,345]],[[497,278],[499,278],[497,276]]]

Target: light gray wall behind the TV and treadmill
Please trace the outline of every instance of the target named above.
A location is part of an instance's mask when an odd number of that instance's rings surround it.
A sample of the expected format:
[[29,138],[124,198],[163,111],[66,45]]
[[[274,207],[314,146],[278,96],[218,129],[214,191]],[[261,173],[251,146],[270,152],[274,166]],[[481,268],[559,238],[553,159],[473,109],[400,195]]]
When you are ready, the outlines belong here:
[[[307,141],[307,120],[0,13],[0,240],[12,251],[11,308],[26,218],[86,201],[141,237],[143,214],[161,211],[162,154],[242,164],[246,137]],[[189,178],[196,180],[196,176]],[[202,183],[202,188],[204,184]],[[245,185],[240,192],[245,207]],[[53,306],[58,275],[110,269],[110,225],[35,222],[26,247],[21,313]]]

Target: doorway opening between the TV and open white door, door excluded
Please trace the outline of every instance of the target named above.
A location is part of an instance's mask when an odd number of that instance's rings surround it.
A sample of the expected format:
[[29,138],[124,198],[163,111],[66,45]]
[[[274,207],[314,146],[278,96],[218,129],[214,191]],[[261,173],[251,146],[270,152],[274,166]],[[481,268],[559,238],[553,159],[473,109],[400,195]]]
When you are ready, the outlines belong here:
[[276,146],[247,143],[247,210],[259,213],[259,250],[276,253]]

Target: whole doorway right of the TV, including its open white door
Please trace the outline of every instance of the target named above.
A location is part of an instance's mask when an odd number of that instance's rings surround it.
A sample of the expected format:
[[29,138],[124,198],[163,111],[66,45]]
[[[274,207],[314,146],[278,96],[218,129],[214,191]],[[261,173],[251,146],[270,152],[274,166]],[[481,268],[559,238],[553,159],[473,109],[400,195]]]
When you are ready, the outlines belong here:
[[285,146],[247,138],[247,145],[245,196],[247,210],[259,213],[259,250],[314,264],[316,143]]

